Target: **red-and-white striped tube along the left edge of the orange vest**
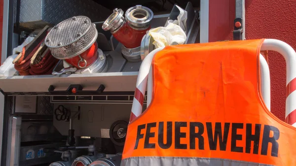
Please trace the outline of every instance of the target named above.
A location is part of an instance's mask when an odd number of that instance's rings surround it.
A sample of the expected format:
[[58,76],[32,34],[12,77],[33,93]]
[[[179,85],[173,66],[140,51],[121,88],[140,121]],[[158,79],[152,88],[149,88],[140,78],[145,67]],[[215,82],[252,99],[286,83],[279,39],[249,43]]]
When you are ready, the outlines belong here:
[[[150,71],[150,66],[152,64],[152,60],[154,55],[158,52],[161,51],[162,48],[157,48],[153,51],[151,51],[143,60],[138,78],[137,78],[137,84],[136,84],[136,90],[135,90],[135,96],[133,100],[133,105],[132,105],[132,111],[131,111],[131,116],[130,116],[130,122],[135,120],[137,117],[139,117],[142,114],[143,110],[143,102],[144,102],[144,97],[145,97],[145,92],[147,88],[147,82],[148,82],[148,73]],[[151,72],[151,71],[150,71]],[[151,82],[151,81],[149,81]],[[150,91],[152,91],[151,88],[149,88]],[[152,94],[151,92],[148,93],[148,95]],[[149,97],[150,98],[150,97]]]

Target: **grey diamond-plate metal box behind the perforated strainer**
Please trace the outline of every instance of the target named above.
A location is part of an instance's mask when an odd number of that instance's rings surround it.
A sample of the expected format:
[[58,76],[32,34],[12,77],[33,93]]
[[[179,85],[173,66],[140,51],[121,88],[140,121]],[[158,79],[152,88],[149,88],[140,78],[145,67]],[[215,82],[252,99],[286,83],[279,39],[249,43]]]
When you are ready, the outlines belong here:
[[20,27],[36,29],[78,15],[97,22],[103,21],[110,14],[111,10],[93,0],[21,0]]

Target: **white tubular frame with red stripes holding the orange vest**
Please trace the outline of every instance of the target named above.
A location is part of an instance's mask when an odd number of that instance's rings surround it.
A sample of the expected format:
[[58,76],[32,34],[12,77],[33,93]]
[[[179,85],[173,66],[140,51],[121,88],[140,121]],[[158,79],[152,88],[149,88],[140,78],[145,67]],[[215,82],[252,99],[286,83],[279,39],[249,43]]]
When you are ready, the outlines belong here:
[[[135,92],[135,98],[133,100],[133,106],[132,106],[132,112],[131,116],[132,118],[138,117],[142,113],[143,103],[141,101],[141,96],[144,94],[146,88],[147,89],[147,106],[151,102],[152,98],[152,73],[151,73],[151,63],[152,59],[158,51],[161,51],[163,48],[158,48],[156,50],[153,50],[151,53],[147,55],[147,57],[144,59],[139,75],[137,78],[137,84],[136,84],[136,92]],[[289,84],[292,87],[296,87],[296,81],[293,82],[293,80],[296,80],[296,52],[295,50],[287,43],[276,40],[276,39],[265,39],[262,46],[261,51],[263,50],[271,50],[276,51],[282,54],[286,60],[287,63],[287,86]],[[260,55],[260,80],[261,80],[261,92],[262,92],[262,98],[264,100],[264,103],[266,107],[270,110],[270,76],[269,76],[269,68],[268,65],[263,58],[262,55]],[[291,82],[292,81],[292,82]],[[147,86],[148,84],[148,86]],[[288,86],[289,88],[289,86]],[[288,95],[288,94],[287,94]],[[140,99],[140,101],[139,101]],[[296,110],[296,91],[291,92],[291,94],[288,95],[286,99],[286,118]],[[133,119],[130,119],[130,121]],[[296,122],[289,123],[292,126],[296,127]]]

